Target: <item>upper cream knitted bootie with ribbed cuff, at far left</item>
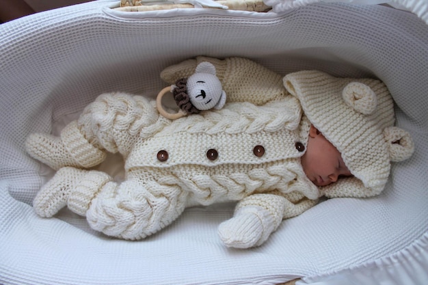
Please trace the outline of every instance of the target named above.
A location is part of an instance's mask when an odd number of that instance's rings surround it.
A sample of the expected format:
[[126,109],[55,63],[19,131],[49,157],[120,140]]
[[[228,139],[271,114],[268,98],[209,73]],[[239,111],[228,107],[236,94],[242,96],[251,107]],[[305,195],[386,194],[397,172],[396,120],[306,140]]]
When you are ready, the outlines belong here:
[[77,122],[62,130],[61,137],[31,134],[25,141],[28,154],[57,170],[64,166],[89,168],[101,163],[106,154],[92,146],[83,136]]

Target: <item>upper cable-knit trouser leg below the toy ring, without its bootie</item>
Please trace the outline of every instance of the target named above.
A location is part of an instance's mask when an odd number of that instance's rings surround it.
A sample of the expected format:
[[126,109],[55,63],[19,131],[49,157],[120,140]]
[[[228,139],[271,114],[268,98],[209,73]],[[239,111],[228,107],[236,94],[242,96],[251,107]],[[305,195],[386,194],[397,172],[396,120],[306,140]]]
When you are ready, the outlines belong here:
[[168,124],[168,120],[159,116],[152,100],[108,93],[88,105],[77,124],[85,139],[94,146],[126,157],[139,137],[150,137]]

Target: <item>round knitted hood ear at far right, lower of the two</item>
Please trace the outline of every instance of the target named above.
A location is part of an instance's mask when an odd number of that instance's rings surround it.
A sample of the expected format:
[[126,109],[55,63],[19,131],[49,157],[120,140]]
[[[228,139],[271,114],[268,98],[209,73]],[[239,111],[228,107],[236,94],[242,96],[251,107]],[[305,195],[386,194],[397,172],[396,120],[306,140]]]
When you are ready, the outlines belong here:
[[384,129],[384,137],[391,161],[403,161],[412,156],[414,144],[410,133],[397,126],[389,126]]

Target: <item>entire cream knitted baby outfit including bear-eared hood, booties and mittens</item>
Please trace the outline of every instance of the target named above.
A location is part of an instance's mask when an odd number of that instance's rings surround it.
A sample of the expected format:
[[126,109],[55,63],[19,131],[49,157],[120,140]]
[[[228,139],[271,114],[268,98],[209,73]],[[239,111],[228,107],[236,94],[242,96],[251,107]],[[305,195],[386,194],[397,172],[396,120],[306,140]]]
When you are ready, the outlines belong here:
[[[413,152],[410,135],[394,126],[393,102],[375,79],[340,79],[310,70],[281,77],[239,57],[198,57],[170,66],[173,84],[200,62],[211,62],[228,100],[222,109],[177,120],[159,115],[155,100],[102,94],[59,137],[32,134],[27,152],[57,172],[42,186],[34,209],[52,217],[64,206],[94,230],[144,239],[172,223],[188,206],[237,201],[219,226],[230,247],[261,245],[282,219],[319,197],[379,194],[390,161]],[[340,151],[353,176],[317,187],[300,159],[313,124]],[[120,152],[126,178],[88,169],[106,152]]]

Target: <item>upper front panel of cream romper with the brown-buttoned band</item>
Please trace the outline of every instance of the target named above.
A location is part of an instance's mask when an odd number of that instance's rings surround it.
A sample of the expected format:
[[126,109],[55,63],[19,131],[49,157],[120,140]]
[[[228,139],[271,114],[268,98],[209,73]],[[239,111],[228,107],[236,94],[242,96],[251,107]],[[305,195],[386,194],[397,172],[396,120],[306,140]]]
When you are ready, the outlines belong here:
[[[294,145],[296,141],[306,144],[307,133],[301,137],[300,133],[290,131],[297,128],[300,118],[298,102],[290,96],[263,107],[251,103],[226,104],[218,111],[203,111],[200,115],[175,120],[144,144],[137,144],[126,160],[125,169],[263,163],[300,157],[302,154]],[[263,144],[269,152],[255,157],[252,150],[257,144]],[[159,146],[168,151],[168,161],[157,160]],[[215,161],[206,159],[205,152],[210,148],[221,154]]]

